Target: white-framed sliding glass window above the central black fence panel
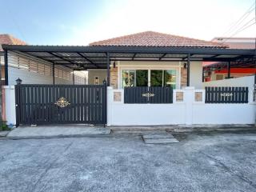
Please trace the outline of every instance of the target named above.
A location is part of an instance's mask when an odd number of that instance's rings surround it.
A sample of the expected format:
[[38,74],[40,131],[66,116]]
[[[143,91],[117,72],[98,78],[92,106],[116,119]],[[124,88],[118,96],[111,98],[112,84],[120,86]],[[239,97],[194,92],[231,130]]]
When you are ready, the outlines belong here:
[[176,89],[177,70],[122,70],[122,87],[171,86]]

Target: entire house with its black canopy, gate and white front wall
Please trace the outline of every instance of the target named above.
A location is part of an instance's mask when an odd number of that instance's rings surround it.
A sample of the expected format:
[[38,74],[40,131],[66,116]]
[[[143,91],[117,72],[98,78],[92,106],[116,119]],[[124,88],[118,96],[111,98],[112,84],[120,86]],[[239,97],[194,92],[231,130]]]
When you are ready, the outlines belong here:
[[[254,63],[255,50],[153,31],[89,46],[2,47],[6,117],[16,126],[255,122],[254,76],[208,87],[202,68],[202,62]],[[75,85],[70,74],[84,70],[89,85]],[[22,84],[14,88],[17,78]]]

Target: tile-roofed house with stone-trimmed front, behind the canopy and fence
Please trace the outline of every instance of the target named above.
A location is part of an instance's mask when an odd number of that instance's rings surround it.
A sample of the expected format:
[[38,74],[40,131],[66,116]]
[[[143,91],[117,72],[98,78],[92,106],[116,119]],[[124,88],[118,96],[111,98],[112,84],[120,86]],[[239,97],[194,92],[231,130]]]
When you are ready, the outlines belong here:
[[[146,31],[118,38],[92,42],[90,46],[138,46],[138,47],[194,47],[218,48],[226,46],[216,42],[206,42],[194,38],[185,38],[172,34]],[[126,58],[111,59],[110,85],[114,88],[124,86],[172,86],[181,89],[187,86],[186,54],[129,54]],[[122,55],[120,55],[122,56]],[[197,55],[191,57],[196,60]],[[191,61],[190,86],[202,88],[202,61]],[[106,70],[88,70],[89,82],[106,79]]]

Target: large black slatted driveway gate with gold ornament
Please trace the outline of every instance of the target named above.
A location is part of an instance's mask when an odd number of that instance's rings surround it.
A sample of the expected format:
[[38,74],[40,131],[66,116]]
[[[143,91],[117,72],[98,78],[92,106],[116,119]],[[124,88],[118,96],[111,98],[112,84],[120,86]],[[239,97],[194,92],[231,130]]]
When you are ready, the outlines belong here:
[[106,124],[104,85],[17,85],[16,124]]

